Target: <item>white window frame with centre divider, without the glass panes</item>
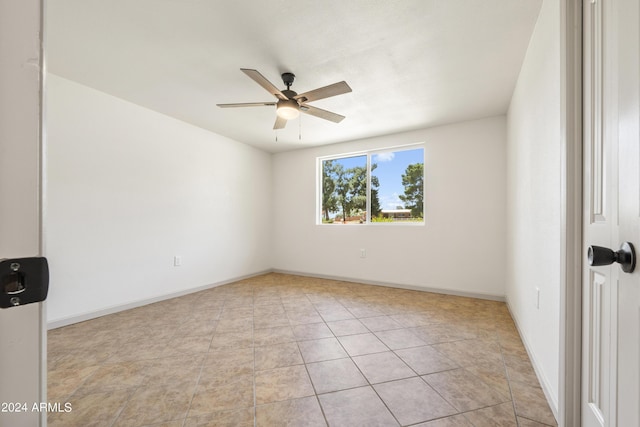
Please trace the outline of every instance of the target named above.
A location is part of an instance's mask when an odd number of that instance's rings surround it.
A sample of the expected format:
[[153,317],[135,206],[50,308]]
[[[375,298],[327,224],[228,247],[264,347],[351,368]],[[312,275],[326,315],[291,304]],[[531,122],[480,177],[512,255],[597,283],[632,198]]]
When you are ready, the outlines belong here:
[[[423,185],[423,199],[422,199],[422,212],[423,212],[423,217],[422,217],[422,221],[392,221],[392,222],[375,222],[375,221],[371,221],[371,158],[372,156],[375,156],[377,154],[381,154],[381,153],[390,153],[390,152],[398,152],[398,151],[410,151],[410,150],[417,150],[417,149],[422,149],[422,165],[423,165],[423,171],[422,171],[422,185]],[[425,213],[425,207],[426,207],[426,201],[424,198],[424,193],[425,193],[425,182],[426,182],[426,168],[424,167],[425,165],[425,158],[426,158],[426,148],[425,148],[425,143],[424,142],[417,142],[417,143],[413,143],[413,144],[404,144],[404,145],[395,145],[395,146],[390,146],[390,147],[382,147],[382,148],[375,148],[375,149],[370,149],[370,150],[362,150],[362,151],[353,151],[353,152],[348,152],[348,153],[341,153],[341,154],[332,154],[332,155],[327,155],[327,156],[319,156],[316,157],[316,225],[321,225],[321,226],[335,226],[335,224],[327,224],[323,222],[323,218],[322,218],[322,196],[323,196],[323,182],[322,182],[322,178],[323,178],[323,162],[327,161],[327,160],[339,160],[339,159],[346,159],[346,158],[350,158],[350,157],[359,157],[359,156],[366,156],[366,167],[367,167],[367,183],[366,183],[366,197],[367,197],[367,202],[366,202],[366,216],[365,216],[365,221],[362,224],[357,224],[358,226],[367,226],[367,225],[372,225],[375,227],[378,226],[393,226],[393,227],[397,227],[397,226],[408,226],[408,227],[418,227],[418,226],[424,226],[426,224],[426,213]],[[342,225],[355,225],[355,224],[342,224]]]

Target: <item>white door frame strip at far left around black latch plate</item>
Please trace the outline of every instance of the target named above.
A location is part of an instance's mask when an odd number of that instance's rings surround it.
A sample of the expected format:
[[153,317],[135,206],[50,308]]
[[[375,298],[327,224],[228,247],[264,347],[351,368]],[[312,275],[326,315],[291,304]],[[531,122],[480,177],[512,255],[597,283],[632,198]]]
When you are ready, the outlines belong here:
[[[0,0],[0,259],[40,252],[40,8]],[[0,309],[0,427],[46,425],[43,310]]]

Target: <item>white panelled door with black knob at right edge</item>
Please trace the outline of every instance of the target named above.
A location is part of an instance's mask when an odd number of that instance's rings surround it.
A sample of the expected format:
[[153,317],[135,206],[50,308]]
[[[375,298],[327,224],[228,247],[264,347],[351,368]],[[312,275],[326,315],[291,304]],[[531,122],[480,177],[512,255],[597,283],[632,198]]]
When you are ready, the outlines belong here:
[[[640,8],[584,7],[584,242],[640,246]],[[640,267],[583,271],[582,425],[640,426]]]

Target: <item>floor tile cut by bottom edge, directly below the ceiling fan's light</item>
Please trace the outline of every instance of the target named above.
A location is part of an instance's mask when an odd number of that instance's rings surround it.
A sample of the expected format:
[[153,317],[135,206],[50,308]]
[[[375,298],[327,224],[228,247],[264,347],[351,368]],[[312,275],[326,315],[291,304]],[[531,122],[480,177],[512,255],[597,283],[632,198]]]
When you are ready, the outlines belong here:
[[259,427],[323,427],[326,425],[315,396],[256,407],[256,426]]

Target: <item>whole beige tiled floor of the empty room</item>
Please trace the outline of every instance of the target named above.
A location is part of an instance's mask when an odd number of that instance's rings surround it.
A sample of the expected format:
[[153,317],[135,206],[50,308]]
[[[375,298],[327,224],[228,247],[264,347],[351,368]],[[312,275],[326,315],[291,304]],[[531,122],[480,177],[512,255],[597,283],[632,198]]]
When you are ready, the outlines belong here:
[[49,332],[55,426],[556,425],[503,303],[267,274]]

